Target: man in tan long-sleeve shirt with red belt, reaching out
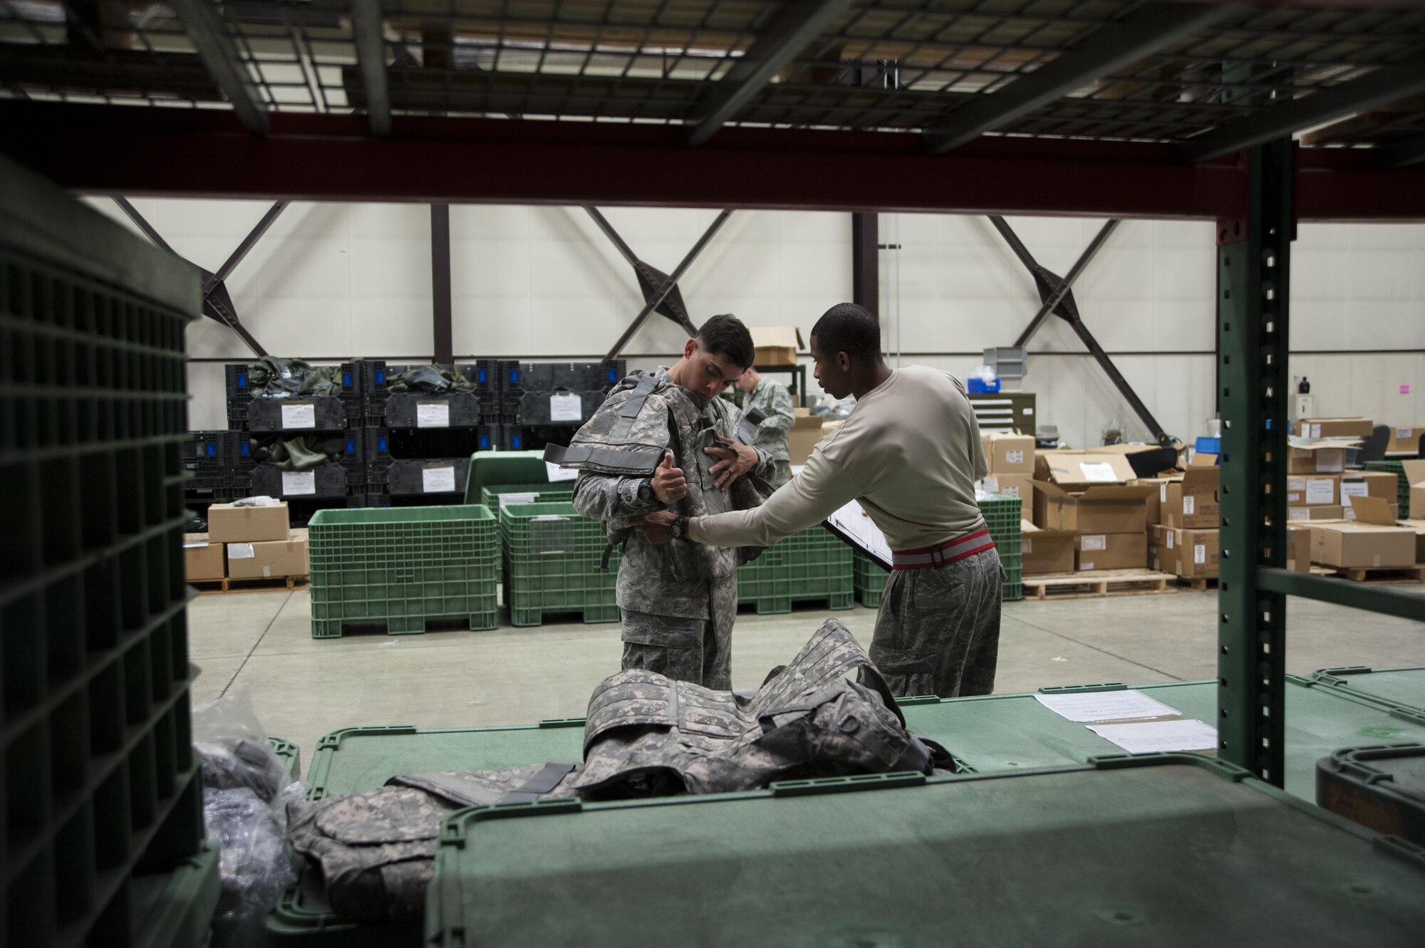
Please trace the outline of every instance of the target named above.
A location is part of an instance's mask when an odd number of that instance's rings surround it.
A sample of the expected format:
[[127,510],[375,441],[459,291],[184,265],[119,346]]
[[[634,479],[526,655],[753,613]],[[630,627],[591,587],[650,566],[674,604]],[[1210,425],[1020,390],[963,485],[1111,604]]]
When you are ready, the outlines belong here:
[[802,473],[755,510],[684,520],[654,514],[650,541],[770,547],[859,500],[895,551],[871,658],[896,695],[988,695],[999,653],[999,554],[975,502],[985,477],[965,387],[925,366],[892,370],[876,317],[832,306],[811,335],[817,380],[856,396]]

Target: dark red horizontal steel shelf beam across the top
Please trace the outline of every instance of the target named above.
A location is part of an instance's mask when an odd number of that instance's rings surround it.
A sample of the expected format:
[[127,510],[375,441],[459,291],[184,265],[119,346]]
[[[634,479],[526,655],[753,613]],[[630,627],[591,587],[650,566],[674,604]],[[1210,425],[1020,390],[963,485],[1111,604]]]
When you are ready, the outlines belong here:
[[[1193,167],[1173,145],[989,137],[929,155],[886,132],[0,102],[0,149],[60,185],[130,196],[931,211],[1117,218],[1237,216],[1235,157]],[[1425,219],[1425,168],[1305,149],[1302,219]]]

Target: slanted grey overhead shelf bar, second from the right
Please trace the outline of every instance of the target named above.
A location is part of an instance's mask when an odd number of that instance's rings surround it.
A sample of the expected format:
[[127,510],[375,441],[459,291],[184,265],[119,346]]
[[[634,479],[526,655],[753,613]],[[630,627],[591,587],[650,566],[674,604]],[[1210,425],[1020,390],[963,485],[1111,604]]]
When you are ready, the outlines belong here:
[[925,132],[925,144],[932,154],[959,148],[1241,10],[1237,4],[1144,4],[1000,91],[956,108],[943,125]]

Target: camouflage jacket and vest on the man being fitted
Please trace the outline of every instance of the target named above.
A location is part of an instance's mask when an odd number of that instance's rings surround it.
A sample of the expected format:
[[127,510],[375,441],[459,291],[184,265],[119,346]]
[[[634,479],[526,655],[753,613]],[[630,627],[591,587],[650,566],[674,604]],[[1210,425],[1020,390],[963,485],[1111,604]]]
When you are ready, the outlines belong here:
[[[717,444],[714,434],[751,444],[755,430],[725,399],[701,401],[687,389],[654,376],[633,373],[613,391],[574,434],[569,448],[547,460],[581,471],[574,487],[574,508],[604,522],[611,544],[624,544],[618,565],[617,599],[621,609],[653,615],[705,619],[710,615],[710,582],[735,582],[737,568],[755,558],[761,548],[730,549],[675,541],[654,547],[633,530],[640,517],[673,510],[687,517],[705,517],[757,507],[771,493],[772,458],[758,448],[758,467],[717,490],[708,470],[717,458],[703,448]],[[683,468],[688,494],[665,507],[657,498],[644,501],[638,488],[653,477],[664,451],[673,451]]]

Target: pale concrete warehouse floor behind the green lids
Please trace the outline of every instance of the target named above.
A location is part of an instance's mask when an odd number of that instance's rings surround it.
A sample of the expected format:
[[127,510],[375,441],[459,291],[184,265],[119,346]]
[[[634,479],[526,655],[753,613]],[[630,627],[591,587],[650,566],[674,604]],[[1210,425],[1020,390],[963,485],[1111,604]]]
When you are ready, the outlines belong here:
[[[1213,678],[1216,602],[1216,591],[1006,602],[996,690]],[[734,688],[755,689],[828,615],[869,643],[875,611],[862,606],[738,616]],[[1425,622],[1292,599],[1288,629],[1288,672],[1425,665]],[[194,700],[245,685],[268,733],[301,744],[304,766],[316,740],[339,727],[583,717],[620,655],[617,623],[314,639],[306,591],[200,596],[188,608],[188,638],[202,669]]]

